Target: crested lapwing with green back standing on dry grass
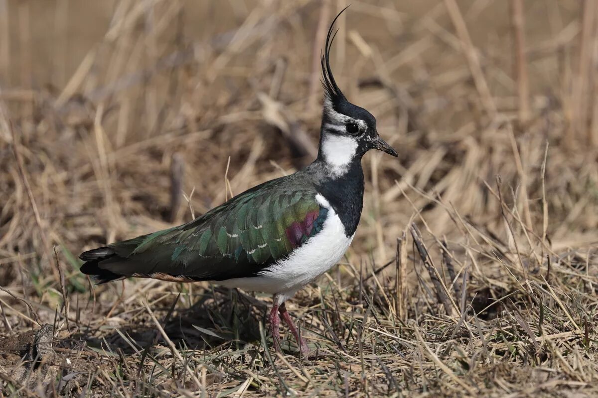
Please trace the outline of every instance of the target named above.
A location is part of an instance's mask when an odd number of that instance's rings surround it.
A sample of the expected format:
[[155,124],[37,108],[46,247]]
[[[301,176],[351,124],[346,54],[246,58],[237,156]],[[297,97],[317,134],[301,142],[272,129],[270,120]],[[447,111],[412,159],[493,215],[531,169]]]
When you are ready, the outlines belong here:
[[359,224],[364,198],[362,157],[368,150],[398,156],[380,137],[376,118],[350,103],[329,60],[332,20],[321,54],[324,103],[318,156],[294,174],[266,181],[195,220],[83,252],[81,271],[97,283],[126,277],[210,281],[273,295],[269,328],[280,347],[282,319],[299,353],[310,348],[285,302],[338,263]]

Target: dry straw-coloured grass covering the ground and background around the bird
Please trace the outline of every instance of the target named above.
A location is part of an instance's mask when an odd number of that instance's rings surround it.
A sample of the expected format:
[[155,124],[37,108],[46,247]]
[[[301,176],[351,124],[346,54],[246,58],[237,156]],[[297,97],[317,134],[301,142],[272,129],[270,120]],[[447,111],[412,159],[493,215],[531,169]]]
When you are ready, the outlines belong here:
[[355,243],[290,304],[303,361],[269,297],[91,286],[76,256],[309,162],[344,1],[0,0],[0,396],[596,396],[583,3],[353,2],[337,81],[399,161],[365,157]]

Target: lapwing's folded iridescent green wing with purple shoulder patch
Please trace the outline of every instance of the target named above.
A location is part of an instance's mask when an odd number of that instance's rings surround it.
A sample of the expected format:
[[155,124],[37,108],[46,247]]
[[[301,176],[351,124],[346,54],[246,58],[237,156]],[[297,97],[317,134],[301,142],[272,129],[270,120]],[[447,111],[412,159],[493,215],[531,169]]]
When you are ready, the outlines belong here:
[[269,181],[188,224],[112,243],[117,256],[98,266],[123,276],[254,276],[320,232],[328,214],[313,189],[282,185]]

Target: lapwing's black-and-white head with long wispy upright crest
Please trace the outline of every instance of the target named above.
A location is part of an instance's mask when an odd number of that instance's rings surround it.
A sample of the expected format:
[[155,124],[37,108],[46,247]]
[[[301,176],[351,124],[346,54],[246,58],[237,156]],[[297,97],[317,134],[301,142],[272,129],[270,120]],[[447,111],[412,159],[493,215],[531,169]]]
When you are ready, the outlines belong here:
[[370,149],[379,149],[392,156],[398,156],[378,134],[376,118],[362,107],[350,103],[334,81],[329,60],[330,48],[336,35],[336,32],[332,33],[332,28],[343,11],[332,21],[322,53],[322,85],[325,97],[318,155],[338,172],[343,172],[354,160],[359,161]]

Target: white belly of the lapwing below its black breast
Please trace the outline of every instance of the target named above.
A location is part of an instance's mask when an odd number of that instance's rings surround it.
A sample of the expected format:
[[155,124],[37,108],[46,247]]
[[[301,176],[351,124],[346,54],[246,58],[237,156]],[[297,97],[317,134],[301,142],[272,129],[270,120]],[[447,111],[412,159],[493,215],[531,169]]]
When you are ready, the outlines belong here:
[[352,236],[347,237],[340,218],[328,202],[317,195],[321,205],[328,208],[322,230],[295,249],[285,260],[261,271],[259,276],[225,280],[222,285],[249,291],[262,291],[292,297],[299,289],[322,275],[340,260],[349,248]]

